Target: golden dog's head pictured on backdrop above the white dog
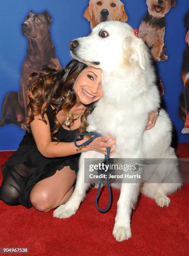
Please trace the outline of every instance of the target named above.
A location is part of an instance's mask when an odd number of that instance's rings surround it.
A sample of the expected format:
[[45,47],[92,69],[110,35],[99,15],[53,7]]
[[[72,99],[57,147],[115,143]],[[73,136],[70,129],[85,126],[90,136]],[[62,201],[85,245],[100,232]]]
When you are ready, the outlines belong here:
[[102,21],[126,22],[128,19],[124,4],[120,0],[90,0],[83,16],[90,21],[91,30]]

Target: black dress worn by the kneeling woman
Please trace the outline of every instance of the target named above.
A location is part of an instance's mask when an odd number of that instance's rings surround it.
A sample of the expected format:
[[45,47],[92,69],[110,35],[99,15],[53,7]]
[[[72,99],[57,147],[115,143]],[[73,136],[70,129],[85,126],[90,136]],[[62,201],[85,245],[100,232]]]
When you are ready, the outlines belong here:
[[[46,111],[51,131],[55,128],[52,110],[50,107]],[[73,142],[76,131],[77,129],[69,131],[60,127],[54,136],[61,142]],[[56,140],[52,139],[52,141]],[[17,151],[1,166],[3,181],[0,187],[0,199],[9,205],[32,207],[30,192],[34,185],[52,176],[56,170],[61,170],[64,166],[70,166],[77,174],[80,155],[81,153],[56,158],[44,157],[38,151],[32,133],[26,131]]]

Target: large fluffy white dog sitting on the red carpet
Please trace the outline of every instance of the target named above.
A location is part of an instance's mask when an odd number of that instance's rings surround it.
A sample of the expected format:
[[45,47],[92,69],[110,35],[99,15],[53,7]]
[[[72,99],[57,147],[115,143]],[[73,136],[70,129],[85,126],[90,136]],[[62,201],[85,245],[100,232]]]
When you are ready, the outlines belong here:
[[[134,35],[134,30],[126,23],[106,21],[93,28],[90,36],[75,39],[70,44],[74,59],[103,70],[103,97],[88,116],[87,131],[103,135],[109,133],[116,138],[116,152],[112,158],[176,159],[170,146],[171,120],[165,110],[160,110],[156,125],[145,130],[149,113],[159,107],[160,95],[149,51],[144,42]],[[54,217],[68,218],[75,214],[89,187],[89,183],[84,182],[84,159],[103,157],[96,151],[81,154],[73,195],[53,212]],[[163,163],[156,168],[152,165],[147,170],[140,167],[141,183],[121,184],[113,228],[117,241],[131,237],[131,211],[140,187],[144,195],[164,207],[170,202],[166,195],[181,186],[175,165],[168,168]]]

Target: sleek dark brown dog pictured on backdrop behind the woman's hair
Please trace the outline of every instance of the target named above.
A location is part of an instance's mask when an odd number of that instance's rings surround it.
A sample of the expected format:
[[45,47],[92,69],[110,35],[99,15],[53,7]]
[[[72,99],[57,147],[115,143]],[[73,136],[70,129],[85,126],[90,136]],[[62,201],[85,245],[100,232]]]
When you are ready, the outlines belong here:
[[23,119],[26,117],[30,74],[33,72],[39,73],[43,65],[61,69],[50,38],[49,28],[51,22],[52,18],[47,11],[43,13],[33,13],[31,11],[22,23],[22,33],[28,39],[28,49],[21,70],[20,92],[8,92],[5,95],[0,126],[6,124],[21,126]]

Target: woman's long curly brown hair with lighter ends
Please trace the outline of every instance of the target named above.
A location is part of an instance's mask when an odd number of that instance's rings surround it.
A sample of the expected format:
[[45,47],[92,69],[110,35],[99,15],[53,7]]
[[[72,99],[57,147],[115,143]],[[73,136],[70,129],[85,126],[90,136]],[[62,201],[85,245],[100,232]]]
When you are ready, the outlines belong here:
[[[27,93],[28,116],[24,119],[22,128],[30,133],[29,123],[34,120],[34,115],[40,115],[40,120],[43,120],[47,124],[44,114],[51,104],[55,108],[52,112],[55,128],[51,132],[51,138],[58,141],[58,139],[53,136],[60,129],[60,123],[56,118],[56,114],[58,111],[64,110],[68,113],[70,122],[73,121],[73,114],[70,110],[73,105],[76,104],[76,95],[73,90],[73,84],[76,81],[78,74],[80,74],[86,67],[86,64],[71,60],[64,69],[57,70],[43,66],[40,69],[40,74],[30,74],[30,87]],[[33,79],[35,79],[34,82],[32,82]],[[86,108],[81,116],[81,126],[76,131],[76,135],[78,133],[86,132],[88,126],[87,116],[92,113],[94,106],[95,102],[87,105],[88,108]],[[78,139],[82,139],[82,136]]]

